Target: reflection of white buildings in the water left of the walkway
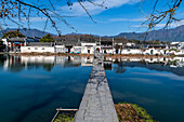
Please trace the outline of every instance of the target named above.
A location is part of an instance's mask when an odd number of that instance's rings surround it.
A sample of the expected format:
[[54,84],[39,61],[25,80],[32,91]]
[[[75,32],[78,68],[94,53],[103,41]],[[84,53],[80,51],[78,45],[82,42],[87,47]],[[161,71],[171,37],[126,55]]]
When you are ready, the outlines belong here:
[[47,71],[51,71],[54,66],[62,66],[63,68],[92,66],[93,56],[80,57],[1,55],[0,63],[4,70],[10,70],[13,72],[18,72],[23,69],[37,69],[40,67]]

